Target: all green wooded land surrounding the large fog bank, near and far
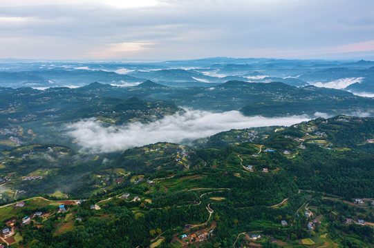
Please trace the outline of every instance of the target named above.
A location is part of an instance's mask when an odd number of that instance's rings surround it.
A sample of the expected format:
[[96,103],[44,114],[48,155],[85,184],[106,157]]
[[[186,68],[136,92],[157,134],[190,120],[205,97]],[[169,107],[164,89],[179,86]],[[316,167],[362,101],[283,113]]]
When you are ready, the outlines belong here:
[[[2,90],[3,99],[20,96],[17,103],[3,102],[0,113],[5,123],[1,132],[6,133],[1,141],[8,142],[1,143],[8,148],[0,154],[0,222],[3,227],[14,227],[13,246],[209,248],[254,242],[276,247],[276,241],[288,247],[373,247],[373,118],[335,116],[292,127],[230,130],[191,147],[156,143],[121,154],[88,155],[78,152],[73,143],[71,147],[37,143],[42,130],[48,130],[43,138],[48,141],[58,135],[56,128],[66,120],[95,117],[115,124],[148,122],[182,111],[169,98],[183,90],[147,85],[126,90],[97,83],[75,90]],[[243,94],[251,91],[258,96],[244,99],[241,92],[232,90],[238,85]],[[287,93],[275,94],[273,87]],[[173,94],[165,96],[168,101],[150,101],[151,96],[144,93],[155,88],[160,94]],[[216,89],[209,94],[223,94],[221,110],[233,107],[228,101],[237,94],[235,104],[247,105],[243,112],[256,114],[270,106],[265,115],[273,110],[282,113],[281,105],[273,105],[291,101],[292,94],[308,94],[302,101],[310,105],[306,112],[317,109],[311,103],[326,104],[333,94],[313,87],[238,81]],[[147,100],[127,98],[129,90],[132,96],[144,94]],[[62,91],[66,94],[61,96]],[[207,94],[198,97],[207,98]],[[195,99],[178,97],[180,101]],[[358,104],[346,92],[334,97],[339,101],[331,112]],[[65,104],[57,107],[57,100]],[[370,99],[361,103],[365,108],[372,104]],[[207,106],[214,109],[216,104],[212,100]],[[291,106],[299,104],[294,100]],[[44,112],[46,105],[53,111]],[[28,116],[28,111],[39,115]],[[301,114],[297,107],[287,111]],[[44,198],[28,198],[37,195]],[[355,198],[363,200],[354,203]],[[17,207],[16,200],[23,200],[24,207]],[[78,205],[77,200],[84,201]],[[61,204],[66,211],[58,211]],[[37,211],[42,216],[34,216]],[[21,224],[25,216],[32,217],[26,225]],[[254,234],[261,238],[255,239]]]

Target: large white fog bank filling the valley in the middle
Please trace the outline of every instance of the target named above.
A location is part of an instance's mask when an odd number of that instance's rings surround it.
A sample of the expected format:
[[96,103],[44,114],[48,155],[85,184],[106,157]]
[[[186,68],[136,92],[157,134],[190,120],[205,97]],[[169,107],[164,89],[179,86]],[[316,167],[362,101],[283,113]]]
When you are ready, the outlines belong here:
[[68,125],[66,134],[82,147],[83,152],[115,152],[157,142],[189,143],[197,138],[231,129],[292,125],[308,120],[308,116],[265,118],[243,116],[238,111],[212,113],[186,110],[183,114],[165,116],[146,124],[135,122],[121,126],[104,125],[95,118],[90,118]]

